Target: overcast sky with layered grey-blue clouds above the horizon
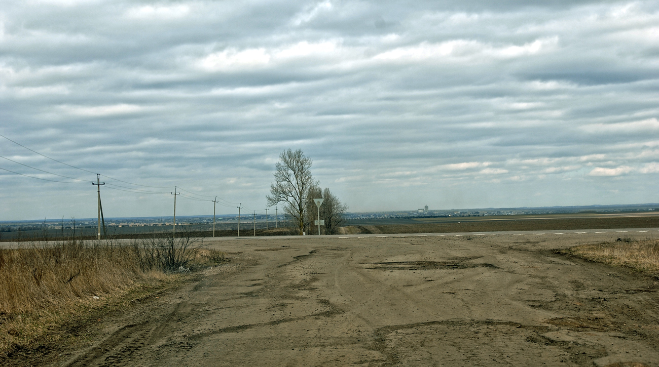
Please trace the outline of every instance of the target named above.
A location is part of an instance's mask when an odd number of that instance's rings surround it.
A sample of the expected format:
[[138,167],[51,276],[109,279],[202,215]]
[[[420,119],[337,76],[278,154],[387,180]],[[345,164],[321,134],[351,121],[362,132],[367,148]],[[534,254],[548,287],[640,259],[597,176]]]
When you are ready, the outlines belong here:
[[3,0],[0,220],[659,202],[659,2],[529,3]]

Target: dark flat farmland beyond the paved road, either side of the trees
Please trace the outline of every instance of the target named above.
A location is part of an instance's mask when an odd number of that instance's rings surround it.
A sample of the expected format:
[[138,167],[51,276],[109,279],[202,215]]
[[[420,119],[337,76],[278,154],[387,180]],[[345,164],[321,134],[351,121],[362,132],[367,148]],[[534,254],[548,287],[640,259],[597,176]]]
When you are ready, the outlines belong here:
[[[264,222],[256,223],[256,235],[292,234],[284,228],[265,230]],[[187,228],[195,236],[210,237],[210,224],[177,225],[177,233]],[[179,229],[180,228],[180,229]],[[606,228],[659,228],[659,212],[581,212],[573,214],[532,214],[502,216],[451,216],[440,218],[386,218],[360,219],[345,222],[343,233],[452,233],[452,232],[503,232],[533,230],[596,230]],[[154,233],[167,235],[171,226],[110,227],[108,235],[113,238],[149,237]],[[76,238],[94,239],[96,228],[82,228]],[[254,226],[250,222],[241,224],[241,236],[253,235]],[[217,237],[237,236],[237,224],[217,225]],[[27,239],[71,238],[72,231],[47,230],[0,233],[0,241]]]

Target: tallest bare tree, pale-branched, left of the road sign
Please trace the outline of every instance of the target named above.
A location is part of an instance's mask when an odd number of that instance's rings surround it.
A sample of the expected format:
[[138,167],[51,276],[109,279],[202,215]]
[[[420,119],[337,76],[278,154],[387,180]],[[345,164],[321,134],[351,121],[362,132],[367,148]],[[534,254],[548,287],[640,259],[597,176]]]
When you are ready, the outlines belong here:
[[284,212],[302,234],[309,187],[317,185],[311,176],[311,159],[302,153],[302,149],[283,151],[275,164],[274,176],[275,183],[270,185],[270,195],[266,196],[268,206],[284,203]]

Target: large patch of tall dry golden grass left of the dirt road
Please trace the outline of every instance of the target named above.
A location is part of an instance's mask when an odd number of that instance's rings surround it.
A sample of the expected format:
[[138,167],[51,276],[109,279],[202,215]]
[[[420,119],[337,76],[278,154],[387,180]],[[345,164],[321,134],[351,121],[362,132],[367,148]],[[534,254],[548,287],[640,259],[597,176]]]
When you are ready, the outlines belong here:
[[185,281],[179,266],[203,266],[223,253],[190,239],[132,241],[129,245],[66,241],[0,250],[0,360],[46,350],[70,337],[67,325],[92,312],[130,302]]

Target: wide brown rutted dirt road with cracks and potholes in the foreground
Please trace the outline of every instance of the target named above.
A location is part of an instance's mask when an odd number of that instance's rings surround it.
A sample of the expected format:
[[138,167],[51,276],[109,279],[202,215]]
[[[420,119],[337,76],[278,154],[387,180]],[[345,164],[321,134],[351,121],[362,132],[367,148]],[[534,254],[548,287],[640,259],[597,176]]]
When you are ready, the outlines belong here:
[[221,241],[57,364],[659,366],[656,278],[555,253],[620,235],[590,234]]

